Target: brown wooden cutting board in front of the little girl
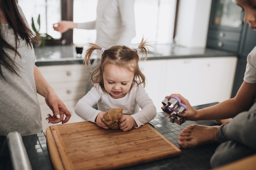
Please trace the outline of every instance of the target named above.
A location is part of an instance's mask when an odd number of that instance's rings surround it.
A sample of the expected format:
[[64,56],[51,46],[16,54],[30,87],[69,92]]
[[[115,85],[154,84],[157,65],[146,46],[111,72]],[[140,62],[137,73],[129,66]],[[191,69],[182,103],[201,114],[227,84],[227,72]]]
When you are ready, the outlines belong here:
[[55,170],[124,168],[181,153],[150,124],[128,132],[88,121],[59,124],[46,129],[46,140]]

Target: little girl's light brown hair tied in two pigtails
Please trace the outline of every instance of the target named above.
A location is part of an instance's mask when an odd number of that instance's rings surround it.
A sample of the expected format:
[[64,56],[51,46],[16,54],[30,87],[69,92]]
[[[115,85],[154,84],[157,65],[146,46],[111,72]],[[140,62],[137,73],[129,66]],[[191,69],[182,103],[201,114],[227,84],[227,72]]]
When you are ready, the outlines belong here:
[[[103,53],[101,55],[100,65],[94,69],[92,72],[90,83],[93,85],[94,83],[99,83],[104,92],[106,89],[104,88],[103,83],[103,70],[106,65],[113,64],[120,68],[124,68],[128,71],[134,72],[133,83],[139,81],[138,84],[143,84],[145,87],[145,76],[139,69],[139,55],[141,53],[144,59],[147,59],[148,54],[148,42],[142,38],[139,47],[136,50],[132,50],[127,46],[112,46],[108,49],[101,48],[95,44],[90,43],[88,49],[85,52],[84,63],[91,65],[91,56],[94,50],[101,50]],[[132,83],[132,84],[133,84]]]

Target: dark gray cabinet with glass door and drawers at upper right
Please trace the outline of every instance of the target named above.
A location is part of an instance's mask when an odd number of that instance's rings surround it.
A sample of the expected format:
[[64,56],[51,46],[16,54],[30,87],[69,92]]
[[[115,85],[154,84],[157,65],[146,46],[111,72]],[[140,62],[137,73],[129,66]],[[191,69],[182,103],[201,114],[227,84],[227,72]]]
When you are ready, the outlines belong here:
[[246,68],[246,58],[256,46],[256,33],[243,22],[242,9],[233,0],[212,0],[207,48],[235,52],[238,56],[231,97],[236,96]]

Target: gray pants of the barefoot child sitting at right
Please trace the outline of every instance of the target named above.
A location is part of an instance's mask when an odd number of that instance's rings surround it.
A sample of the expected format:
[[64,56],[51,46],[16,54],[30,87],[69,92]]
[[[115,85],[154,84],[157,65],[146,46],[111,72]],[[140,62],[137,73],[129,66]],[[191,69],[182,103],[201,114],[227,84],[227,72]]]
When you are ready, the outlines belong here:
[[256,103],[239,113],[231,122],[223,124],[217,133],[220,146],[211,157],[216,168],[256,153]]

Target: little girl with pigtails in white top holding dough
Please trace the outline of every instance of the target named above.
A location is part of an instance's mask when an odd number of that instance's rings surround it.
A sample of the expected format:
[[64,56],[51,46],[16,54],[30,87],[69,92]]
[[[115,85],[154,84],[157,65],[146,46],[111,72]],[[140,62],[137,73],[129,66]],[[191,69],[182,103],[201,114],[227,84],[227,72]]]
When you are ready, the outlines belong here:
[[[101,61],[90,78],[94,87],[77,102],[75,113],[103,129],[109,129],[103,122],[104,113],[109,109],[122,107],[123,116],[119,120],[122,131],[129,131],[132,127],[139,128],[152,120],[156,116],[156,108],[146,94],[145,76],[138,65],[138,52],[146,54],[146,59],[147,46],[149,45],[143,39],[137,50],[127,46],[113,46],[105,50],[90,44],[85,52],[84,62],[90,65],[94,50],[101,50]],[[95,104],[98,110],[92,107]]]

